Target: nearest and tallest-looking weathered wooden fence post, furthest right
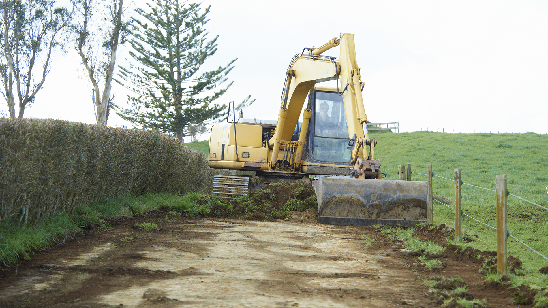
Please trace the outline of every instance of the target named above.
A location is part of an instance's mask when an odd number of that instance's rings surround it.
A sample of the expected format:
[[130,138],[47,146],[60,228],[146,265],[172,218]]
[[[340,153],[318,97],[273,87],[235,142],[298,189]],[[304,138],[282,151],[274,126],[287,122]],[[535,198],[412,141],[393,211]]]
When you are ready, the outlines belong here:
[[508,230],[506,229],[506,198],[508,190],[506,188],[506,175],[495,177],[496,194],[496,267],[501,275],[507,275],[506,264],[506,239]]

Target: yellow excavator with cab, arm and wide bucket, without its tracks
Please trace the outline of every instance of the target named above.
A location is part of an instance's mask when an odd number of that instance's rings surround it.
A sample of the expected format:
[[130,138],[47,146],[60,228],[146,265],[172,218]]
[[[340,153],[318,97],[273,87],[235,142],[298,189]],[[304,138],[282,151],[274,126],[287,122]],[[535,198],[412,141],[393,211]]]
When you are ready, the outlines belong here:
[[[339,45],[339,58],[322,56]],[[255,171],[267,181],[333,176],[314,183],[319,223],[426,222],[426,182],[382,179],[360,77],[354,34],[305,48],[287,69],[276,123],[238,123],[234,110],[230,121],[229,105],[227,123],[210,132],[209,167]],[[336,88],[321,86],[328,80]]]

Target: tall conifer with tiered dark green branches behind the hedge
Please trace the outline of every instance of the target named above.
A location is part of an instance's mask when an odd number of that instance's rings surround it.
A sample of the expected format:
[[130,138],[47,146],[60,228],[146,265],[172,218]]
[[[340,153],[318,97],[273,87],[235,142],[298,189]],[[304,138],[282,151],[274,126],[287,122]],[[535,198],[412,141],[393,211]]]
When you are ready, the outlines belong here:
[[136,63],[130,69],[120,67],[118,75],[123,81],[117,81],[136,96],[129,96],[132,108],[118,108],[118,115],[182,140],[187,126],[221,117],[225,104],[212,103],[232,84],[218,89],[236,59],[213,71],[200,71],[217,50],[217,37],[208,40],[204,28],[209,7],[202,10],[199,4],[179,0],[155,0],[153,4],[148,4],[149,13],[136,9],[142,20],[133,18],[134,51],[130,55]]

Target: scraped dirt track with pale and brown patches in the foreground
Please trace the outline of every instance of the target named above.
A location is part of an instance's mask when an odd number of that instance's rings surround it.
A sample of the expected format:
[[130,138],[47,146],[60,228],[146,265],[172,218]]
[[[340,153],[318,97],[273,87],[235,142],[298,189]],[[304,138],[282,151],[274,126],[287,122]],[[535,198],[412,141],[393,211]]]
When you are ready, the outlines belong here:
[[372,232],[364,247],[367,228],[165,214],[3,268],[0,306],[439,307],[394,243]]

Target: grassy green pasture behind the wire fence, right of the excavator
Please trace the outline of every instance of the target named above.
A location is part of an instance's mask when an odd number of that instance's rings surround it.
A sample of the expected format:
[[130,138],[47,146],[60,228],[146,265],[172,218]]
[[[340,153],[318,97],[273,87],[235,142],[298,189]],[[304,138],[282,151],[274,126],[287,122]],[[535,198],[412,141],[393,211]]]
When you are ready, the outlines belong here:
[[[409,163],[412,180],[426,181],[426,176],[419,173],[426,173],[426,165],[432,164],[434,175],[439,176],[433,177],[433,193],[454,200],[454,170],[460,168],[465,183],[461,210],[490,226],[496,227],[494,191],[466,184],[495,189],[495,176],[506,175],[511,194],[548,207],[548,135],[422,131],[373,137],[378,141],[375,158],[381,160],[386,179],[398,179],[398,165]],[[433,212],[434,223],[454,227],[454,210],[434,201]],[[507,224],[511,235],[548,257],[548,210],[509,195]],[[470,237],[475,240],[467,246],[496,250],[496,233],[489,226],[463,215],[462,228],[464,234],[479,236]],[[523,261],[528,274],[536,276],[539,268],[548,265],[548,260],[512,237],[508,239],[508,252]],[[519,280],[527,280],[528,276],[520,276]]]

